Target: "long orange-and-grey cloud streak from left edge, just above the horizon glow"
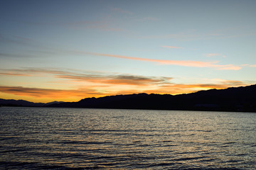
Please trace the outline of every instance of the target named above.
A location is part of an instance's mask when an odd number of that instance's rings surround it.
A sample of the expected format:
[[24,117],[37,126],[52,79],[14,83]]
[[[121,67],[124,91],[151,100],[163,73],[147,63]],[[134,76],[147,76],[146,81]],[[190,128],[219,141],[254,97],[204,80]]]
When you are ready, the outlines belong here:
[[59,70],[50,68],[24,68],[24,69],[0,69],[0,75],[6,76],[35,76],[51,74],[58,79],[70,79],[72,81],[85,81],[94,84],[121,84],[134,86],[149,86],[169,82],[171,77],[144,77],[134,74],[111,74],[103,72],[78,72],[78,70]]

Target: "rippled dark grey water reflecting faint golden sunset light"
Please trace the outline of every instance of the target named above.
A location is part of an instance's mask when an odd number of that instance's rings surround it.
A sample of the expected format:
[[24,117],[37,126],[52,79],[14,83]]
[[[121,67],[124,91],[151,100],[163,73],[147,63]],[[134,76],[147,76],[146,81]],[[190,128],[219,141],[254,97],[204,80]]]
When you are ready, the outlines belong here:
[[0,169],[256,169],[256,113],[0,108]]

